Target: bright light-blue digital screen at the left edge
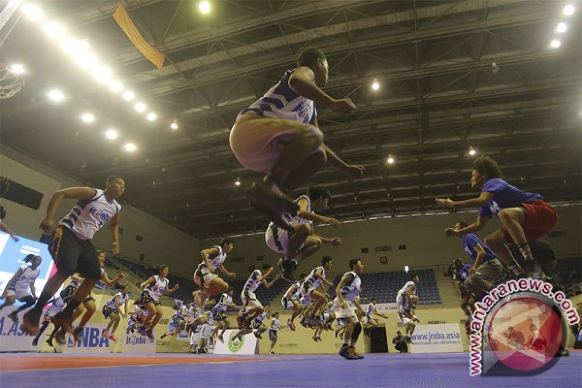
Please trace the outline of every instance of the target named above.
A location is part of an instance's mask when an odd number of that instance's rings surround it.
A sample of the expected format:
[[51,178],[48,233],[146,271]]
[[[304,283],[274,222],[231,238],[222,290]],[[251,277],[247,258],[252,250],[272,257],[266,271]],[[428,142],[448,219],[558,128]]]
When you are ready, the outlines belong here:
[[[40,273],[38,274],[34,288],[37,296],[40,295],[42,287],[51,276],[54,268],[54,261],[51,254],[48,252],[48,245],[39,243],[38,241],[25,239],[19,237],[19,241],[14,241],[8,233],[0,232],[0,294],[4,292],[6,284],[12,279],[12,276],[22,265],[29,265],[24,262],[24,258],[34,254],[42,258],[40,264]],[[56,272],[56,268],[55,268]],[[15,306],[22,305],[20,301],[16,301]]]

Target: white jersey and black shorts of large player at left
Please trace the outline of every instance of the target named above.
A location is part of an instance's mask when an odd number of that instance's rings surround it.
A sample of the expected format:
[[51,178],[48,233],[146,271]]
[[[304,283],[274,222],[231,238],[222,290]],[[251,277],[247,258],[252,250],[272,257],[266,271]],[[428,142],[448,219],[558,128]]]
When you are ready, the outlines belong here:
[[59,272],[70,276],[79,272],[88,279],[101,279],[97,252],[91,243],[93,235],[121,211],[116,200],[108,201],[105,191],[95,189],[89,200],[79,200],[61,220],[49,251]]

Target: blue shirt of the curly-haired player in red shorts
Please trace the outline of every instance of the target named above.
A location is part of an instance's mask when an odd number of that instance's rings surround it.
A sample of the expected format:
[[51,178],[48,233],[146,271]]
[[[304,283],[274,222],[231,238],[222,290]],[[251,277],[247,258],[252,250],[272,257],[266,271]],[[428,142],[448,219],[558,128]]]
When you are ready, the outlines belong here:
[[489,179],[483,185],[483,193],[493,193],[493,198],[487,204],[481,207],[479,216],[491,218],[495,214],[499,217],[501,209],[519,207],[521,204],[531,204],[532,202],[542,200],[541,194],[527,193],[517,187],[513,187],[505,180],[499,178]]

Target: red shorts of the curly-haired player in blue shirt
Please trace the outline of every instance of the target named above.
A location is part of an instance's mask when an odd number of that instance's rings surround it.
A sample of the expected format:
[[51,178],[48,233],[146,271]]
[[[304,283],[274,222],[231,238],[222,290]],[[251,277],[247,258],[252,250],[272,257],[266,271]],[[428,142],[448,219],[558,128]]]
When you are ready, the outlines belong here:
[[[544,237],[558,222],[558,214],[548,202],[537,200],[531,204],[521,204],[527,211],[526,220],[521,225],[527,241],[535,241]],[[503,226],[503,233],[510,243],[514,243],[507,228]]]

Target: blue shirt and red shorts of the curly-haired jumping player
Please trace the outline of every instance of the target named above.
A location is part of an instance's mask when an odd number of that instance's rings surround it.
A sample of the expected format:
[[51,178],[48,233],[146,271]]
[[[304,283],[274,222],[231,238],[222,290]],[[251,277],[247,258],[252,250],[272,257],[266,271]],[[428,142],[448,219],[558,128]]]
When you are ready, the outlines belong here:
[[[492,215],[499,218],[499,212],[506,208],[526,209],[526,220],[521,227],[527,241],[534,241],[545,236],[558,221],[555,209],[544,201],[541,194],[527,193],[499,178],[486,181],[481,191],[493,193],[491,200],[479,211],[479,216],[482,218],[491,218]],[[502,227],[502,231],[510,243],[515,243],[505,226]]]

